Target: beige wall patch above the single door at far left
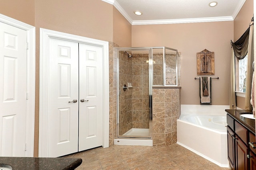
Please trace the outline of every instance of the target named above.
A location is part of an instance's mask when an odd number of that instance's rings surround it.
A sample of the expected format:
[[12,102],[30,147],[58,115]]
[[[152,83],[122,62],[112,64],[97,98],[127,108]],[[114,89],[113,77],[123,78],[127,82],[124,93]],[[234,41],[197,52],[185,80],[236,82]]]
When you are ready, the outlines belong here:
[[0,14],[22,21],[29,25],[35,25],[35,1],[34,0],[1,0]]

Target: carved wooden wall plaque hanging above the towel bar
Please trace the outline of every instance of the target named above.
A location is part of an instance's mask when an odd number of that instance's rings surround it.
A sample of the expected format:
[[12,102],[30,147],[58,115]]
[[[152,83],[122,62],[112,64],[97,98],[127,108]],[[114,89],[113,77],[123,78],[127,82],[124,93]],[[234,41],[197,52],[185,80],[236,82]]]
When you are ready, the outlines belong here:
[[214,52],[204,49],[196,53],[197,58],[197,75],[214,75]]

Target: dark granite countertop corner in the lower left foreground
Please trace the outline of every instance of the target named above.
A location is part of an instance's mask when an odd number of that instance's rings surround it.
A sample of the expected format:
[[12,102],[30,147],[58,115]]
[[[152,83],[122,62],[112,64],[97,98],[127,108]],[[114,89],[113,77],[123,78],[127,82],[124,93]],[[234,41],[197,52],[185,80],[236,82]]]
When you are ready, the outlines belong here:
[[12,170],[74,170],[82,164],[82,159],[0,157],[0,164],[10,165]]

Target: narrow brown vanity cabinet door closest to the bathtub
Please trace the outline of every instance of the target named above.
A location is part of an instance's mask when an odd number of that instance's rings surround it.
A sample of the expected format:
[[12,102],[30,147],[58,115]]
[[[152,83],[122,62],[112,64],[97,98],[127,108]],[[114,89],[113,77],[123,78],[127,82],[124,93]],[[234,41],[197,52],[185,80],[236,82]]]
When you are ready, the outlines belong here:
[[234,132],[227,126],[228,130],[228,161],[230,163],[231,168],[234,170],[235,168],[235,136]]

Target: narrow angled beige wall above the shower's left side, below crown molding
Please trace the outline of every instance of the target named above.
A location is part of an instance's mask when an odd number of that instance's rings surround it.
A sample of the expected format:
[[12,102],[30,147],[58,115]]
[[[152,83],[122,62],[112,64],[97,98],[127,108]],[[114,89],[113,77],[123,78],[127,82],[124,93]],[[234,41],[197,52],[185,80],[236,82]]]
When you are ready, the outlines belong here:
[[132,25],[116,9],[113,9],[113,42],[120,47],[132,47]]

